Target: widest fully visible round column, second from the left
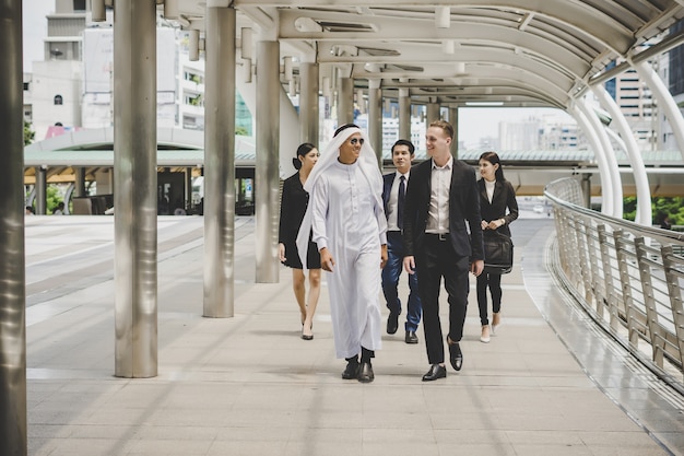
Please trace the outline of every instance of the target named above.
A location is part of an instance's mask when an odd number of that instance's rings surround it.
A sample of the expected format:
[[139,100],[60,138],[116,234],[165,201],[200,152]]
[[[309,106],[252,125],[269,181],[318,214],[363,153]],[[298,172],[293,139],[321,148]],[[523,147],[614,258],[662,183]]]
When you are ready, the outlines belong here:
[[157,374],[156,4],[114,15],[115,375]]

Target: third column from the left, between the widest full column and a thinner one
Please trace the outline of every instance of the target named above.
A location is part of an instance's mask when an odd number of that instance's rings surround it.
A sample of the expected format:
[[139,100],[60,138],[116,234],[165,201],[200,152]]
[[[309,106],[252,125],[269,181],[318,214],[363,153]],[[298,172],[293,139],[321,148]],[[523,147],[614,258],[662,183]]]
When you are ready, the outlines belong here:
[[235,9],[207,8],[204,42],[203,315],[225,318],[235,293]]

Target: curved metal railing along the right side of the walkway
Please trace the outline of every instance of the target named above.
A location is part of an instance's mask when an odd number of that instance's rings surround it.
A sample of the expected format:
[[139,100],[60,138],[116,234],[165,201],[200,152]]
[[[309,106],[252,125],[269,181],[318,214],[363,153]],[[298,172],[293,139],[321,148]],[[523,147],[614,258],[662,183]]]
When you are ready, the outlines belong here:
[[589,315],[684,394],[684,233],[583,208],[578,180],[546,186],[554,208],[553,268]]

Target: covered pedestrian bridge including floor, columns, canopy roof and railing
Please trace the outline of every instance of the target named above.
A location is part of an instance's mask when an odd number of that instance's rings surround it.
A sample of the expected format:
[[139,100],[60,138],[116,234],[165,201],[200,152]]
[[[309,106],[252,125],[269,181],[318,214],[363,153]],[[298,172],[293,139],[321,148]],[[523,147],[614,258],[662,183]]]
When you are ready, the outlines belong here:
[[[86,3],[94,22],[107,20],[105,0]],[[636,72],[684,154],[684,118],[653,66],[684,40],[680,0],[114,3],[115,218],[24,217],[21,4],[0,9],[0,442],[10,454],[683,453],[682,238],[648,227],[646,166],[605,87]],[[203,219],[156,217],[157,21],[175,21],[188,56],[207,61]],[[251,86],[241,94],[255,106],[262,183],[245,221],[234,215],[231,153],[240,84]],[[354,98],[373,143],[385,100],[404,138],[412,105],[455,125],[472,104],[556,107],[597,159],[603,212],[577,204],[577,184],[547,187],[555,224],[514,230],[500,335],[485,346],[471,334],[464,370],[435,385],[418,382],[420,346],[391,338],[375,383],[343,383],[325,312],[316,339],[299,339],[280,281],[274,163],[299,142],[325,143],[323,120],[334,110],[351,121]],[[595,101],[623,141],[637,225],[621,220],[615,137]]]

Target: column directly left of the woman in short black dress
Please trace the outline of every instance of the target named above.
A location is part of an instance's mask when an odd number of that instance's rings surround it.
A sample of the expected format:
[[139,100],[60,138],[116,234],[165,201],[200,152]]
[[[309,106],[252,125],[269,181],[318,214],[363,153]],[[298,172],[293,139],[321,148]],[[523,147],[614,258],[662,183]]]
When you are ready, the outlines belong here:
[[257,283],[276,283],[280,144],[280,44],[260,42],[257,62],[256,247]]

